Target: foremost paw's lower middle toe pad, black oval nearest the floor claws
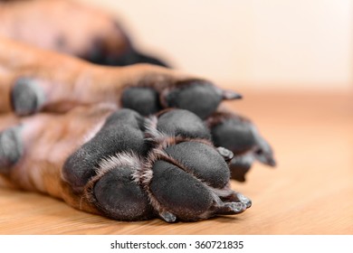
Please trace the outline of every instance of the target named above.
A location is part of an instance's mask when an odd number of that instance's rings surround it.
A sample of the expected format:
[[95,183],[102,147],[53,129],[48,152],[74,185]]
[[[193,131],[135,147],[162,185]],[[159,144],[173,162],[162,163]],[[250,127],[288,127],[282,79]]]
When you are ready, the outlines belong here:
[[198,220],[211,208],[211,192],[189,173],[165,161],[157,161],[152,171],[150,191],[164,209],[179,219]]

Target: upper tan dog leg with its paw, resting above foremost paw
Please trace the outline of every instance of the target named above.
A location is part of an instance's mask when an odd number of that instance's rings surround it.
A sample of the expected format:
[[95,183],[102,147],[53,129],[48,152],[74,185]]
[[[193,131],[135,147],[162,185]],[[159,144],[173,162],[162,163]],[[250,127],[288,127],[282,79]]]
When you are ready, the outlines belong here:
[[5,80],[0,108],[13,108],[19,115],[105,102],[144,115],[184,108],[205,118],[224,99],[241,98],[207,80],[148,64],[101,67],[5,39],[0,40],[0,50],[6,52],[0,56]]

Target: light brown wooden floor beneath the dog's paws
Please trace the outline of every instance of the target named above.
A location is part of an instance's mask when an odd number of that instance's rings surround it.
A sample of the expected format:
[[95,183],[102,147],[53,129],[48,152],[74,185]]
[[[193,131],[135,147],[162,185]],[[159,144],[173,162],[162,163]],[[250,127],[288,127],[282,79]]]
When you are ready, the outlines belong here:
[[353,234],[353,92],[242,92],[278,167],[255,164],[234,189],[243,214],[196,223],[119,222],[31,192],[0,190],[0,234]]

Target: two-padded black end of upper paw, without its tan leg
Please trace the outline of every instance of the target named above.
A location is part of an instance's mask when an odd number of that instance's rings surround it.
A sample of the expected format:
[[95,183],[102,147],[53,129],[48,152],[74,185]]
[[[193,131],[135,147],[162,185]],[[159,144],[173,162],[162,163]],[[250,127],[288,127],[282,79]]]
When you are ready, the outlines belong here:
[[[167,85],[166,85],[167,84]],[[209,117],[222,101],[242,96],[231,90],[217,88],[207,80],[142,80],[134,87],[122,91],[121,106],[148,116],[163,108],[182,108],[198,117]],[[207,101],[205,103],[205,101]]]

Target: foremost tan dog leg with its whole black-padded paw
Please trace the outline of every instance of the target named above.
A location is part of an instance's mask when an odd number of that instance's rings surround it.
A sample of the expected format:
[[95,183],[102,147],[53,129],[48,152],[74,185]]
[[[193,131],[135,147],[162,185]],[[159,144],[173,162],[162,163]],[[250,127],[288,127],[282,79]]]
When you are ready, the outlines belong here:
[[0,176],[82,211],[167,222],[237,214],[249,200],[230,188],[231,152],[216,148],[190,111],[142,117],[130,109],[38,114],[0,133]]

